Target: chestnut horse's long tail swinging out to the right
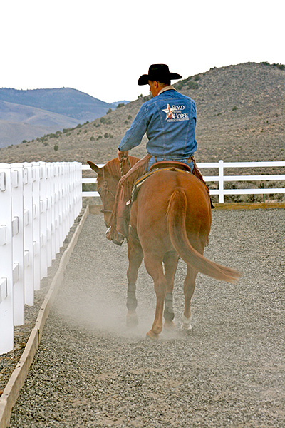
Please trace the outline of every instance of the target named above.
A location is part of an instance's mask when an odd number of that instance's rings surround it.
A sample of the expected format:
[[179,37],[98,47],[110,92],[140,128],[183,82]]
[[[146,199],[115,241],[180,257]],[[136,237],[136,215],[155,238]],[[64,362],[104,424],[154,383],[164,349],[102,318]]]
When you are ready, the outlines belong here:
[[172,193],[167,207],[167,228],[170,240],[182,260],[195,267],[199,272],[216,280],[237,282],[240,273],[212,262],[192,247],[186,231],[187,198],[185,190],[176,189]]

